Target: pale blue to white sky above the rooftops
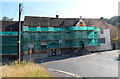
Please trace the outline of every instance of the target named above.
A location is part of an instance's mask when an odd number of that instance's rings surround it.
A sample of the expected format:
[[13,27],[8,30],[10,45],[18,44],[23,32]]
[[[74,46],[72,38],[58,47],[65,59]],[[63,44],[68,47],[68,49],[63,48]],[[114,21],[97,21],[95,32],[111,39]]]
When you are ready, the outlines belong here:
[[24,16],[60,18],[111,18],[118,15],[119,0],[1,0],[0,19],[3,16],[18,21],[18,4],[23,4]]

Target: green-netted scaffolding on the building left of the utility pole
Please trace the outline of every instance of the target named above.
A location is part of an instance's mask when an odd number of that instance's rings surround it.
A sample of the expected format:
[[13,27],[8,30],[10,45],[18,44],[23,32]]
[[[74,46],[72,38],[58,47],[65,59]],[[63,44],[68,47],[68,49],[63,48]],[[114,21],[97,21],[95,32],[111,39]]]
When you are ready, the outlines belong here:
[[18,32],[0,32],[2,55],[17,55],[17,35]]

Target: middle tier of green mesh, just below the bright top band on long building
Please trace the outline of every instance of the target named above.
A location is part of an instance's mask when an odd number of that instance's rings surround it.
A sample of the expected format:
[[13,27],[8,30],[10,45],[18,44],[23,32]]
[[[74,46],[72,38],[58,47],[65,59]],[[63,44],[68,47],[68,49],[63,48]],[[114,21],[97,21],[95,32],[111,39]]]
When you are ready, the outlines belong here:
[[30,40],[67,40],[67,39],[80,39],[80,38],[98,38],[98,33],[94,31],[71,31],[71,32],[23,32],[23,39]]

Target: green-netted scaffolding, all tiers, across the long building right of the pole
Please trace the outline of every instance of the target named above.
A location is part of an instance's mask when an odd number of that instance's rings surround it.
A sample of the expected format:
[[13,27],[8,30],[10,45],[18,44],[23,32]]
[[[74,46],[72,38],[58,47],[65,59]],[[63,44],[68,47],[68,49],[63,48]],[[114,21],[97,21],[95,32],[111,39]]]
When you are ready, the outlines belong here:
[[[27,49],[30,44],[35,49],[42,49],[42,42],[46,42],[46,49],[74,48],[81,46],[99,46],[99,28],[94,27],[23,27],[22,45]],[[81,42],[82,41],[82,42]]]

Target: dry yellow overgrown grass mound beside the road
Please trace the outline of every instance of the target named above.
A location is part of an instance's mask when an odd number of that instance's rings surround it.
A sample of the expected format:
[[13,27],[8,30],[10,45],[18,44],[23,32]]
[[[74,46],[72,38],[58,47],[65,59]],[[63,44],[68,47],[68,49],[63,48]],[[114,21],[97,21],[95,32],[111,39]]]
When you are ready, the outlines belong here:
[[20,64],[16,61],[11,65],[1,66],[0,68],[2,69],[1,77],[47,77],[52,79],[51,75],[43,67],[25,61]]

